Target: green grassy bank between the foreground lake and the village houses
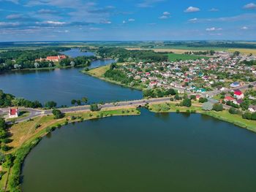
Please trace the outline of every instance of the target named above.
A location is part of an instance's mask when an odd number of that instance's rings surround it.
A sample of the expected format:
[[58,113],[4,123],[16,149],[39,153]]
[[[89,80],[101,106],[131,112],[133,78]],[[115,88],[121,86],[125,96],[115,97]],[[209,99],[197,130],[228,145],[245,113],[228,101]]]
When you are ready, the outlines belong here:
[[223,110],[222,112],[216,111],[204,111],[200,107],[200,104],[194,102],[192,107],[177,107],[173,102],[167,102],[165,104],[151,104],[149,105],[149,110],[152,112],[197,112],[203,115],[208,115],[213,118],[217,118],[219,120],[223,120],[229,123],[233,123],[236,126],[241,128],[246,128],[249,131],[254,131],[256,133],[256,122],[254,120],[246,120],[241,117],[241,115],[233,115],[230,114],[227,110]]

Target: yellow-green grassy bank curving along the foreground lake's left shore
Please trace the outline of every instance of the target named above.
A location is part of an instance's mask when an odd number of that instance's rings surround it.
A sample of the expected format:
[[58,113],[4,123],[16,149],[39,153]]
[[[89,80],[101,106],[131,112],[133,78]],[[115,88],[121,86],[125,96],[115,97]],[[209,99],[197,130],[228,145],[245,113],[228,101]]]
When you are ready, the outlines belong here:
[[10,174],[8,173],[9,167],[4,168],[6,173],[0,182],[0,189],[4,189],[6,185],[7,188],[4,191],[20,191],[20,174],[23,161],[31,149],[46,134],[56,128],[67,125],[67,123],[117,115],[140,115],[140,112],[135,107],[102,110],[99,112],[72,112],[65,114],[65,117],[61,119],[54,119],[53,115],[46,115],[13,125],[10,128],[12,142],[9,145],[12,150],[6,154],[12,154],[14,161],[12,161],[12,166],[10,167]]

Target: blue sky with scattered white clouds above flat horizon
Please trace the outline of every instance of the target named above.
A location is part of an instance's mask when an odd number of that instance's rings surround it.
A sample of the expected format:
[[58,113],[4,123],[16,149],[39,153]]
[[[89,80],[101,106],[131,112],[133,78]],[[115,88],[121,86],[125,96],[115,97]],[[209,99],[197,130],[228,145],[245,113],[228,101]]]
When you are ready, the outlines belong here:
[[256,40],[252,0],[0,0],[0,42]]

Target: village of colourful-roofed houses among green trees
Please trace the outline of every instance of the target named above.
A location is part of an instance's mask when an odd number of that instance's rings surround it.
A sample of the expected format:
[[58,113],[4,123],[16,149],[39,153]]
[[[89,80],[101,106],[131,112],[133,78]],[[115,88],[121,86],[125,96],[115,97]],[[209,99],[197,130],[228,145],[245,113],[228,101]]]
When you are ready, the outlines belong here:
[[132,80],[130,85],[146,89],[173,88],[178,93],[194,93],[198,99],[203,93],[208,96],[206,93],[209,92],[223,92],[217,96],[213,94],[213,99],[236,108],[242,104],[244,110],[256,112],[255,90],[249,93],[247,87],[242,91],[238,89],[255,82],[256,67],[249,64],[249,61],[255,61],[255,55],[217,52],[214,56],[188,61],[124,63],[116,70]]

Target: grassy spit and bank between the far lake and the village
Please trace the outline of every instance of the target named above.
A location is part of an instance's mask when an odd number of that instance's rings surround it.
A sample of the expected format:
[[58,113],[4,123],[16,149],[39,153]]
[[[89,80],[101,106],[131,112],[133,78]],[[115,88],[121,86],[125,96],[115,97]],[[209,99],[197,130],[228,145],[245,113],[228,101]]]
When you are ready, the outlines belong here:
[[[118,65],[120,65],[120,64],[118,64]],[[121,82],[118,82],[115,80],[110,80],[110,79],[104,77],[105,72],[107,72],[109,69],[110,69],[110,64],[108,64],[106,66],[99,66],[99,67],[91,69],[89,71],[82,70],[81,72],[84,74],[89,74],[91,77],[97,77],[98,79],[103,80],[105,82],[111,82],[116,85],[121,85],[124,88],[132,88],[132,89],[136,89],[138,91],[143,91],[143,88],[141,88],[140,86],[125,85]]]

